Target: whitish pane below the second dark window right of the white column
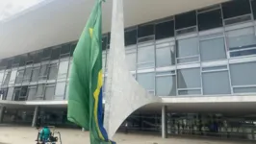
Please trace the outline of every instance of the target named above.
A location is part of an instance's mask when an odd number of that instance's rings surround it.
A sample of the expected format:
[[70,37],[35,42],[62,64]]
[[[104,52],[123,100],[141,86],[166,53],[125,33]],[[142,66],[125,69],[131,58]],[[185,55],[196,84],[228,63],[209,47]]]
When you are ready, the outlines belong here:
[[138,67],[154,67],[155,53],[154,45],[138,48]]

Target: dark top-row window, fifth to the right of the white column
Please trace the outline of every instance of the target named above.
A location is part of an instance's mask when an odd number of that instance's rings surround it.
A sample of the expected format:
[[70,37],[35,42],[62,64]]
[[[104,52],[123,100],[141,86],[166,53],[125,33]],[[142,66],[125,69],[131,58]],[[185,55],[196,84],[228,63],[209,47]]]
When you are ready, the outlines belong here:
[[222,18],[220,10],[211,12],[203,12],[198,14],[199,31],[209,30],[222,26]]

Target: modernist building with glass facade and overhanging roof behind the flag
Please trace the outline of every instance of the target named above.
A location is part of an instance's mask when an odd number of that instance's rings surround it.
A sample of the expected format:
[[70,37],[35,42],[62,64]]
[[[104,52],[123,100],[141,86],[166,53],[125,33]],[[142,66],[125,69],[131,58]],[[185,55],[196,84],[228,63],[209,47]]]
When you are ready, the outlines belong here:
[[[67,125],[68,71],[92,4],[56,0],[0,22],[0,122],[31,125],[40,114]],[[103,6],[105,78],[111,5]],[[131,73],[163,100],[135,111],[132,130],[161,132],[165,113],[169,134],[256,139],[255,0],[125,0],[124,15]]]

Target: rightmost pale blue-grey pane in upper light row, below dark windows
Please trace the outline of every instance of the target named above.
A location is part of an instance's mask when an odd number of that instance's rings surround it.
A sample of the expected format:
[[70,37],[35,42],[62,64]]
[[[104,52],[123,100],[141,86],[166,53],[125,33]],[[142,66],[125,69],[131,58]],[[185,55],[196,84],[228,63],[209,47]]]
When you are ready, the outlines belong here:
[[253,27],[230,31],[227,36],[229,50],[246,49],[256,45]]

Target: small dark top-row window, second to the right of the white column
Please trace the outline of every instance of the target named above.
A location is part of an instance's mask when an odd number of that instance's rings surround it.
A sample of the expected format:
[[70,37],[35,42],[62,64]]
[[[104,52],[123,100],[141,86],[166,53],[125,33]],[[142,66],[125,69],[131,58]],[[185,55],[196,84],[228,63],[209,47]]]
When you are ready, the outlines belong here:
[[138,37],[152,36],[154,35],[155,26],[153,24],[139,26]]

